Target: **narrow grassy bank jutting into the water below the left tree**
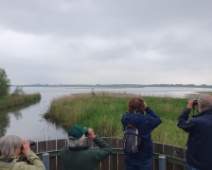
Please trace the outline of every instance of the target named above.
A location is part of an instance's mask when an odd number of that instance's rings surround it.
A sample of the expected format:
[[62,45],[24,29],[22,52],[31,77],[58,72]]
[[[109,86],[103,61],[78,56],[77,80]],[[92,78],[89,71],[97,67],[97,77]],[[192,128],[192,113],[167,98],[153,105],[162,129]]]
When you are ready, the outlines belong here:
[[0,98],[0,111],[36,103],[40,99],[41,95],[39,93],[8,95]]

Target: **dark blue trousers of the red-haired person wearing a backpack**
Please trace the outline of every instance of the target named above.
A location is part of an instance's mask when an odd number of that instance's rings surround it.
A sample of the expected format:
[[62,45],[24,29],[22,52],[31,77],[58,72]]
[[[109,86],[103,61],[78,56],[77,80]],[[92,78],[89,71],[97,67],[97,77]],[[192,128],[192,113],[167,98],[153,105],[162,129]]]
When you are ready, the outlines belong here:
[[141,161],[139,158],[124,158],[126,170],[152,170],[152,158]]

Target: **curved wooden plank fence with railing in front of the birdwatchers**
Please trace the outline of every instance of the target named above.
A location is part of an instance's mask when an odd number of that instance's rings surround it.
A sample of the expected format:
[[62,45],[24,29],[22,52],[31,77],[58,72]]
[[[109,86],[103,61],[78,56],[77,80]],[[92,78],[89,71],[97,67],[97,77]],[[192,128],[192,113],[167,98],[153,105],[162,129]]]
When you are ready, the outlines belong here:
[[[122,139],[102,137],[113,148],[113,153],[97,170],[124,170]],[[92,140],[87,145],[96,147]],[[47,170],[61,170],[59,150],[67,146],[66,139],[37,142],[32,150],[43,160]],[[154,143],[153,170],[187,170],[185,148]]]

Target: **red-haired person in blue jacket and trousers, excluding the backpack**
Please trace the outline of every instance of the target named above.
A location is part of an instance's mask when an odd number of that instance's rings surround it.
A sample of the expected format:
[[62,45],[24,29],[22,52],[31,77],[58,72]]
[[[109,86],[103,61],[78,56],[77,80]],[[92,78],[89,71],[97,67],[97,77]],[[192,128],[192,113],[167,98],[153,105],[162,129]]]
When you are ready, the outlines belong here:
[[126,170],[152,170],[154,152],[151,132],[162,122],[160,117],[142,98],[134,97],[129,100],[128,112],[122,116],[121,122],[123,129],[128,125],[136,127],[143,141],[138,153],[133,156],[124,155]]

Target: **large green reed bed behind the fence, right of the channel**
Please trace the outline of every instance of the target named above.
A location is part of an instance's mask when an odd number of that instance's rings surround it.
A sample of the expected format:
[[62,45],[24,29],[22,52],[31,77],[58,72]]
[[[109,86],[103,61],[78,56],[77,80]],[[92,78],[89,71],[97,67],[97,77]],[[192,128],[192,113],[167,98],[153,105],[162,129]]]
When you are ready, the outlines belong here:
[[[94,128],[100,136],[122,137],[121,117],[134,94],[94,93],[58,98],[51,103],[46,119],[68,129],[74,124]],[[185,147],[187,134],[176,124],[187,99],[142,97],[162,119],[152,133],[154,142]]]

